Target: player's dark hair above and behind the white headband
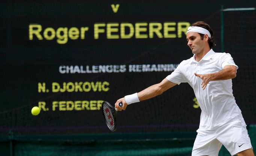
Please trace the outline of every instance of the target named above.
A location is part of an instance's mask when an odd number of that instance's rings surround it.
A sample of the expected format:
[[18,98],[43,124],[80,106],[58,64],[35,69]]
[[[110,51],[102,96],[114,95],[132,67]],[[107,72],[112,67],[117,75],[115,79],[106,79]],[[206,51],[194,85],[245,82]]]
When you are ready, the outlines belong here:
[[[206,30],[208,30],[211,34],[211,38],[209,37],[209,39],[208,39],[209,47],[212,49],[216,45],[215,41],[214,41],[214,33],[212,31],[212,28],[206,22],[197,21],[197,22],[194,22],[191,26],[202,27],[202,28],[205,28]],[[201,39],[203,39],[203,37],[205,35],[201,34],[201,33],[199,33],[199,34],[201,36]]]

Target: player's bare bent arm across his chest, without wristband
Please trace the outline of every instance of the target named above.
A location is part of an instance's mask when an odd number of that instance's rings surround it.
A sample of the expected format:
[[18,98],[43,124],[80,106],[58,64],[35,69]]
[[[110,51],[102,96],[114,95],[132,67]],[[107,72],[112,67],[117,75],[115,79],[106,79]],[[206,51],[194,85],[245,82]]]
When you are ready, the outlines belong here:
[[198,76],[202,79],[201,85],[203,90],[206,88],[207,84],[210,81],[214,80],[227,80],[227,79],[233,79],[236,77],[236,66],[234,65],[226,65],[223,70],[217,72],[217,73],[211,73],[211,74],[197,74],[194,73],[195,76]]

